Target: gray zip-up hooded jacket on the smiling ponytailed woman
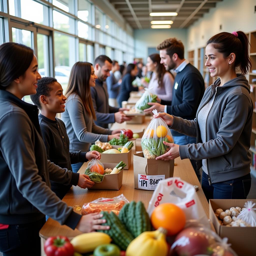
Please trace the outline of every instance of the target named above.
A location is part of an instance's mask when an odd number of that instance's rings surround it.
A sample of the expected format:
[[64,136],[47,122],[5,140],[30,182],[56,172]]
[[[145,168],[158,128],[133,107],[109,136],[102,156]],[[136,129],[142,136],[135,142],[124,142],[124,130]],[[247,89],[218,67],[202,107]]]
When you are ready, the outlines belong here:
[[[238,75],[219,85],[220,79],[217,79],[206,89],[194,120],[174,116],[170,126],[197,138],[196,144],[179,146],[180,158],[197,160],[198,169],[202,166],[201,160],[206,159],[209,184],[250,173],[253,102],[249,83],[245,76]],[[202,143],[197,116],[212,95],[214,100],[206,119],[206,143]]]

